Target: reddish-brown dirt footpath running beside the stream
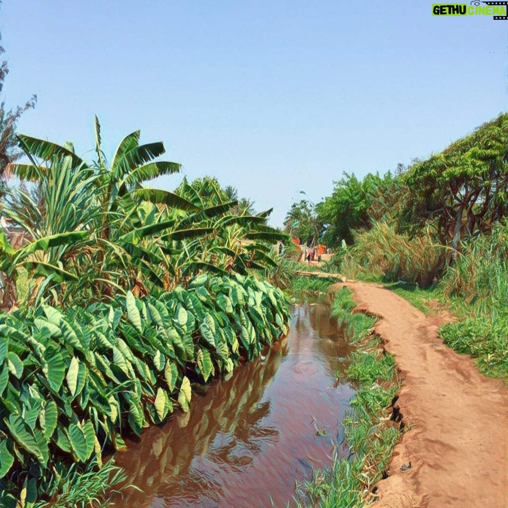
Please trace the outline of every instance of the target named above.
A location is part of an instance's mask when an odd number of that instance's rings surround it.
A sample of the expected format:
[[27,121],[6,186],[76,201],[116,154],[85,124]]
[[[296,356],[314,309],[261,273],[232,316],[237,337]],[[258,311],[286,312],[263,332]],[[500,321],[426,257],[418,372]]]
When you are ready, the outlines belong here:
[[[480,374],[468,356],[442,343],[437,329],[446,317],[425,316],[382,287],[351,281],[346,285],[362,307],[383,316],[375,331],[402,374],[396,405],[410,426],[395,447],[389,477],[377,485],[374,506],[506,508],[503,382]],[[412,467],[401,471],[409,461]]]

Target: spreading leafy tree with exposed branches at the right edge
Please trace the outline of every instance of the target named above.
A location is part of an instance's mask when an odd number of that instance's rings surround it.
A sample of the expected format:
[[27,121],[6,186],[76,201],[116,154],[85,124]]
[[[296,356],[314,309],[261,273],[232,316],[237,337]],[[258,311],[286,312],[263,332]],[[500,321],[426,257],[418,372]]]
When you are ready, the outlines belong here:
[[404,176],[406,216],[418,229],[432,224],[441,243],[488,232],[508,215],[508,114],[483,124]]

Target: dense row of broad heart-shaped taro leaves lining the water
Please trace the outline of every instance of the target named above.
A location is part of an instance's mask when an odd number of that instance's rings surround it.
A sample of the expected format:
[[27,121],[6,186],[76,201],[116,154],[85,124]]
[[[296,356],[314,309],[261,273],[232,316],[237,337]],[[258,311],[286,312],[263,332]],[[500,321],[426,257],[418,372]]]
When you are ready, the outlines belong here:
[[120,432],[161,423],[177,402],[188,410],[187,376],[231,372],[288,317],[268,283],[206,274],[157,297],[0,314],[2,476],[44,478],[55,455],[101,461],[104,446],[124,447]]

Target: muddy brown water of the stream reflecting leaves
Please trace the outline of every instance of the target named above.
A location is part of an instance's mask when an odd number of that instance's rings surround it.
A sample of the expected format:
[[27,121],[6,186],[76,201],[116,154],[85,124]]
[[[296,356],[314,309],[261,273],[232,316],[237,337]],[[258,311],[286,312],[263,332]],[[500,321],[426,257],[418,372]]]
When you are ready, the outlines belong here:
[[129,489],[114,506],[284,506],[295,481],[329,466],[342,442],[354,392],[335,381],[349,352],[326,304],[294,306],[288,337],[265,361],[193,393],[186,415],[146,429],[116,455],[143,492]]

